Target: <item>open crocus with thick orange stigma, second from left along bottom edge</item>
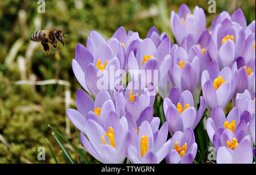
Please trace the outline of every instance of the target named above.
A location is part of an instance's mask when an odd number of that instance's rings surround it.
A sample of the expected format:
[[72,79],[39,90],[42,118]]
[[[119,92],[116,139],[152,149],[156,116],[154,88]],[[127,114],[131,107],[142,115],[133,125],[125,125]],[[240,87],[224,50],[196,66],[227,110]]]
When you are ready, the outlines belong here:
[[167,140],[168,126],[165,122],[154,134],[150,123],[142,122],[137,131],[130,127],[131,144],[128,146],[128,158],[134,164],[159,164],[166,157],[170,140]]

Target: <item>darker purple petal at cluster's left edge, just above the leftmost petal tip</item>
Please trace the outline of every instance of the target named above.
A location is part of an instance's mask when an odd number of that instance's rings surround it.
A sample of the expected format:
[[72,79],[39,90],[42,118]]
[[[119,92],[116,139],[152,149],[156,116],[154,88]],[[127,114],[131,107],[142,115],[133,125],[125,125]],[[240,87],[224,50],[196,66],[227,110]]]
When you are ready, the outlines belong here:
[[82,91],[82,89],[78,89],[76,93],[76,106],[77,110],[83,116],[86,116],[88,112],[93,111],[94,102],[86,92]]

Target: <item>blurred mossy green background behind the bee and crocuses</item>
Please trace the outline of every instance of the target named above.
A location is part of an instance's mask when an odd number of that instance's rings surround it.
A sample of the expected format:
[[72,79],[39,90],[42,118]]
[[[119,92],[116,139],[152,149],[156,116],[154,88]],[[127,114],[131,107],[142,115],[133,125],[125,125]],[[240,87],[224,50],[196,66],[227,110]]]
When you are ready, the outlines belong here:
[[[122,25],[126,31],[138,31],[144,39],[155,25],[174,41],[170,13],[177,12],[182,3],[192,11],[195,6],[202,7],[207,27],[223,10],[232,14],[241,8],[247,24],[255,19],[254,0],[217,1],[216,14],[208,13],[208,1],[195,0],[46,0],[46,13],[42,14],[38,13],[37,2],[0,1],[0,163],[55,163],[46,138],[59,163],[67,163],[48,124],[79,146],[77,131],[65,110],[76,108],[76,91],[81,86],[73,75],[71,62],[77,43],[85,45],[90,31],[96,30],[108,40]],[[60,59],[56,59],[52,47],[46,56],[42,45],[30,41],[35,31],[51,28],[72,31],[65,46],[58,47]],[[77,154],[65,146],[77,161]],[[45,161],[38,161],[38,147],[46,148]]]

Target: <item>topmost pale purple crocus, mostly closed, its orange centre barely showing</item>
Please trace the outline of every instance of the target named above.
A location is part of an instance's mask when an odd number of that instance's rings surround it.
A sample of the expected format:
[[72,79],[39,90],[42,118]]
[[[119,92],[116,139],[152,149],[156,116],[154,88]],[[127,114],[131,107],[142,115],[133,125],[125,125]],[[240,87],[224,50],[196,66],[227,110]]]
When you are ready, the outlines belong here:
[[195,7],[193,14],[187,5],[181,5],[178,14],[171,12],[171,28],[177,44],[191,46],[198,44],[199,38],[206,30],[204,10]]

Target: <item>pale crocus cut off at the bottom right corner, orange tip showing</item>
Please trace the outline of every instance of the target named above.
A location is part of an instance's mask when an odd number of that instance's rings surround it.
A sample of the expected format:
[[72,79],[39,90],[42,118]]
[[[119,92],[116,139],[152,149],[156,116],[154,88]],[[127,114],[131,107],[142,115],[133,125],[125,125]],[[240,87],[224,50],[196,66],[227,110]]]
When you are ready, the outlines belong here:
[[251,164],[253,163],[253,150],[250,137],[246,137],[238,144],[236,138],[229,138],[228,146],[218,148],[217,164]]

